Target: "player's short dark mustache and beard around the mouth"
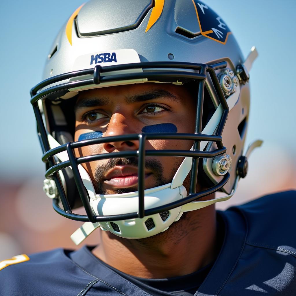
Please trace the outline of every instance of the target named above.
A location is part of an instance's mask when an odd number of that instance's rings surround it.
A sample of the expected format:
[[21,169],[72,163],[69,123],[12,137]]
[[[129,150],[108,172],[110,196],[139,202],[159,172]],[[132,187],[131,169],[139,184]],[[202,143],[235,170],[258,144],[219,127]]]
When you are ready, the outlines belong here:
[[[94,173],[94,188],[96,190],[96,194],[107,194],[106,190],[103,189],[104,176],[106,176],[107,172],[114,168],[116,165],[133,165],[138,167],[138,158],[110,158],[107,163],[104,165],[100,165],[96,168]],[[159,160],[155,159],[146,159],[145,160],[145,168],[149,169],[154,176],[155,184],[153,187],[161,186],[170,183],[170,180],[166,180],[163,175],[163,165]],[[146,188],[147,189],[147,188]],[[114,190],[114,194],[121,194],[127,192],[137,191],[134,187],[129,188],[120,188],[118,190]]]

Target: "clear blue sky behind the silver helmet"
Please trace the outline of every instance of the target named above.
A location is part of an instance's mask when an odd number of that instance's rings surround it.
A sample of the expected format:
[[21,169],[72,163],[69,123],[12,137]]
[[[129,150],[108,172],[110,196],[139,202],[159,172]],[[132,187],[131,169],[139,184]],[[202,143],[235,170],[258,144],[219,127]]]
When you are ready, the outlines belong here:
[[[0,1],[2,179],[44,172],[29,91],[41,80],[57,32],[83,2]],[[227,23],[245,57],[253,45],[259,52],[251,71],[247,141],[263,139],[266,153],[270,145],[282,147],[296,163],[296,1],[204,2]]]

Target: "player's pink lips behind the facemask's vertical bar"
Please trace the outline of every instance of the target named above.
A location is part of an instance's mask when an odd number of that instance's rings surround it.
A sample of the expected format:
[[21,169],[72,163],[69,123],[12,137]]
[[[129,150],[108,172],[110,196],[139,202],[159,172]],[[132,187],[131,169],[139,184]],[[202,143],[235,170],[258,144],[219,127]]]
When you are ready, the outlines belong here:
[[[145,171],[145,178],[152,173]],[[127,188],[138,183],[138,169],[132,166],[115,166],[104,177],[104,183],[115,188]]]

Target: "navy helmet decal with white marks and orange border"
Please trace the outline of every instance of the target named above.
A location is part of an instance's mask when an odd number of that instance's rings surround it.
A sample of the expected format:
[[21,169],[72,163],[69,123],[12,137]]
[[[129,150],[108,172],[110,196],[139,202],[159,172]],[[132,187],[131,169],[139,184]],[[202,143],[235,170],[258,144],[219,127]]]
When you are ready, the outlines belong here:
[[192,2],[200,26],[200,33],[214,41],[226,44],[231,31],[221,17],[201,1],[192,0]]

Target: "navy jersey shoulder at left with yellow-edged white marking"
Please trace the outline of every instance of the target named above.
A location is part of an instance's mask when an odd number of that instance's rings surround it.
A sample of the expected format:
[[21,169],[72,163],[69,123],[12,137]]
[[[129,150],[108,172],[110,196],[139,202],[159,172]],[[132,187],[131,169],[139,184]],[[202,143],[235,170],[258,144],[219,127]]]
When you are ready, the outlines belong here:
[[[93,278],[55,249],[0,263],[0,295],[77,295]],[[76,293],[76,294],[75,294]]]

